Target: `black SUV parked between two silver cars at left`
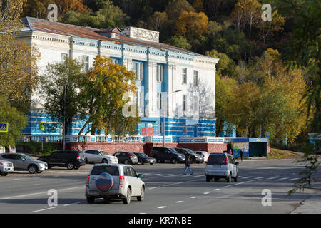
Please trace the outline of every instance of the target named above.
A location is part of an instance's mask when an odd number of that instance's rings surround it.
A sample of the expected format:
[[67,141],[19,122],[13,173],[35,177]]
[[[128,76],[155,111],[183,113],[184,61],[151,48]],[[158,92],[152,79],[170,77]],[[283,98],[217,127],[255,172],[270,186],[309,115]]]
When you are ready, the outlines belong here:
[[78,170],[79,167],[86,165],[85,157],[79,150],[57,150],[51,155],[39,157],[38,160],[46,162],[49,169],[53,166],[66,166],[68,170]]

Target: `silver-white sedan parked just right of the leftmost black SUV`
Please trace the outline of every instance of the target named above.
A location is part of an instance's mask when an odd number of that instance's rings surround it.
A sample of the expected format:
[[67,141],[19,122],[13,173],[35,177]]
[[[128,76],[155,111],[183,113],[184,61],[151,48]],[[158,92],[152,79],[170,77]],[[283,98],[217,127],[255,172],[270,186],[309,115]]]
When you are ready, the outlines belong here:
[[108,155],[103,150],[83,150],[83,153],[86,155],[86,163],[106,163],[106,164],[118,164],[118,158],[113,155]]

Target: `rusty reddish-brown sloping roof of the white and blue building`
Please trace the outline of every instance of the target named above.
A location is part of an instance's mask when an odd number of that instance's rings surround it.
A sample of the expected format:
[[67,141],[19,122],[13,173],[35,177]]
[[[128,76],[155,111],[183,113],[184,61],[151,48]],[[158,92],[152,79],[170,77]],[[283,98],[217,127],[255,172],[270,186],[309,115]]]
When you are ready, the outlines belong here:
[[[46,33],[55,33],[59,35],[65,36],[78,36],[80,38],[88,38],[93,40],[101,40],[101,41],[113,41],[115,43],[125,43],[133,46],[147,46],[151,48],[158,48],[165,51],[175,51],[179,53],[185,53],[193,56],[203,56],[198,53],[194,53],[191,51],[184,50],[182,48],[177,48],[175,46],[170,46],[165,43],[158,43],[152,41],[143,41],[135,38],[130,38],[121,33],[119,38],[110,38],[108,36],[103,36],[102,33],[106,31],[113,31],[115,28],[107,28],[107,29],[97,29],[83,26],[75,26],[72,24],[63,24],[55,21],[47,21],[44,19],[36,19],[33,17],[26,16],[21,19],[24,23],[24,28],[22,31],[40,31]],[[209,56],[204,56],[211,58]]]

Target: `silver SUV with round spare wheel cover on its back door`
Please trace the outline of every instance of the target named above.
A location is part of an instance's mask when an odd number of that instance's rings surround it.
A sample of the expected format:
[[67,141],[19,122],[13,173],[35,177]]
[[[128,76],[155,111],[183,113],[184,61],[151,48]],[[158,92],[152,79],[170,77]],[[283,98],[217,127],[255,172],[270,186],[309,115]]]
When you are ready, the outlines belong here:
[[87,176],[86,198],[93,203],[96,198],[122,199],[124,204],[131,202],[131,197],[142,201],[145,196],[145,183],[131,165],[97,164],[93,165]]

